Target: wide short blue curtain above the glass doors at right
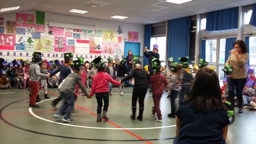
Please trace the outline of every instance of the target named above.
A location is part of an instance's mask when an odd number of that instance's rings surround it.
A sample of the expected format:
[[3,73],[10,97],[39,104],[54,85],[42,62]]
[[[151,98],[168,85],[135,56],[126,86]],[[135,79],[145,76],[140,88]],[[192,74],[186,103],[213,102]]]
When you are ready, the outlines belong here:
[[206,31],[238,28],[238,7],[206,13]]

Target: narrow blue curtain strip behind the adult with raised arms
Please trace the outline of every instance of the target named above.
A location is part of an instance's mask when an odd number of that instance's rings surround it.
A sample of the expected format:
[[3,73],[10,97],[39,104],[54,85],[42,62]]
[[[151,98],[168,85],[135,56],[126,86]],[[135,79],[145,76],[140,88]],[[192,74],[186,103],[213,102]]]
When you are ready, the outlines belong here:
[[[150,49],[150,39],[151,39],[151,31],[152,31],[152,24],[147,24],[145,25],[145,31],[144,31],[144,46],[143,46],[143,52],[144,52],[144,47],[148,47]],[[143,67],[145,65],[148,65],[148,58],[143,56]]]

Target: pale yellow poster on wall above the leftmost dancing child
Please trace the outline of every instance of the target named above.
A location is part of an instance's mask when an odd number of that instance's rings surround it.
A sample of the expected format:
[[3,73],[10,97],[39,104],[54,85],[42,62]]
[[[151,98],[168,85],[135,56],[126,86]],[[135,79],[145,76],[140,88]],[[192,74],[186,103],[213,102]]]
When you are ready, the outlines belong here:
[[50,36],[42,36],[40,39],[35,40],[35,51],[52,52],[52,38]]

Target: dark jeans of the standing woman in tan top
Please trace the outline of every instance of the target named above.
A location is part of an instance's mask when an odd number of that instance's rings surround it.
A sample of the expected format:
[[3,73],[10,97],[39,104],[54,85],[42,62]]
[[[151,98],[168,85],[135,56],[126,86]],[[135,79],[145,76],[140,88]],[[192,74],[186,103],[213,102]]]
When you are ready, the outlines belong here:
[[243,105],[243,88],[246,84],[246,79],[232,79],[227,77],[228,82],[228,101],[231,103],[231,108],[234,108],[234,97],[236,92],[238,107]]

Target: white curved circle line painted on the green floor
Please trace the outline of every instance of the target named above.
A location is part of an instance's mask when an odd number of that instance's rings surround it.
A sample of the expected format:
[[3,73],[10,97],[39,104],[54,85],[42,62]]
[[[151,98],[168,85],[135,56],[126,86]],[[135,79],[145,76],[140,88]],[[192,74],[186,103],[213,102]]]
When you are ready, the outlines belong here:
[[[52,98],[52,99],[56,99],[56,98]],[[47,99],[47,100],[51,100],[51,99]],[[45,102],[47,100],[42,100],[40,102],[37,102],[38,103],[41,103],[41,102]],[[51,122],[51,123],[54,123],[54,124],[60,124],[60,125],[67,125],[67,126],[71,126],[71,127],[81,127],[81,128],[87,128],[87,129],[111,129],[111,130],[124,130],[124,129],[127,129],[127,130],[145,130],[145,129],[162,129],[162,128],[168,128],[168,127],[176,127],[176,125],[167,125],[167,126],[162,126],[162,127],[144,127],[144,128],[110,128],[110,127],[87,127],[87,126],[82,126],[82,125],[71,125],[71,124],[65,124],[65,123],[60,123],[60,122],[54,122],[52,120],[47,120],[45,118],[42,118],[38,115],[36,115],[33,111],[32,111],[32,108],[29,108],[29,113],[33,116],[35,116],[36,118],[40,119],[40,120],[44,120],[46,122]]]

